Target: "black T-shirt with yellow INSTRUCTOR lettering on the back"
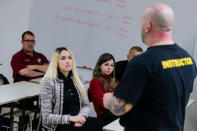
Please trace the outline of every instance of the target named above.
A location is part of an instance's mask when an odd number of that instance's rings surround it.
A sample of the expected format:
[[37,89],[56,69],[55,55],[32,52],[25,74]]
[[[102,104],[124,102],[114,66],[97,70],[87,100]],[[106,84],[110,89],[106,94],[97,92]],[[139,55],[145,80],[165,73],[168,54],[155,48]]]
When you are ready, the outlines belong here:
[[133,108],[121,116],[129,131],[180,131],[196,64],[177,44],[154,46],[128,63],[114,95]]

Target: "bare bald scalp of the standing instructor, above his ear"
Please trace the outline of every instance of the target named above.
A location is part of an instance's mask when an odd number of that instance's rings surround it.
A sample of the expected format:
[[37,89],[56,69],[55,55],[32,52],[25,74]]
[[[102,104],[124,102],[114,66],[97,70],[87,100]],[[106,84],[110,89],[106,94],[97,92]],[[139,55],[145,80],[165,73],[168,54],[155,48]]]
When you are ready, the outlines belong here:
[[152,23],[155,30],[167,32],[172,30],[174,13],[169,6],[163,3],[154,3],[145,8],[143,19],[145,22]]

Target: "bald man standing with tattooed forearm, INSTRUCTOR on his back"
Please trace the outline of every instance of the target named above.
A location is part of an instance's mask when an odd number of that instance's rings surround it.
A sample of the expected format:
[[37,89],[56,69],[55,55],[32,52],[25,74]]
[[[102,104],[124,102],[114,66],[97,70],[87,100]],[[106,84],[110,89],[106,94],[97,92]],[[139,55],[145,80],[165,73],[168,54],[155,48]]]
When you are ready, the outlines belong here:
[[121,116],[125,131],[181,131],[196,64],[172,39],[174,14],[169,6],[149,5],[141,21],[148,50],[128,63],[114,94],[106,93],[103,104]]

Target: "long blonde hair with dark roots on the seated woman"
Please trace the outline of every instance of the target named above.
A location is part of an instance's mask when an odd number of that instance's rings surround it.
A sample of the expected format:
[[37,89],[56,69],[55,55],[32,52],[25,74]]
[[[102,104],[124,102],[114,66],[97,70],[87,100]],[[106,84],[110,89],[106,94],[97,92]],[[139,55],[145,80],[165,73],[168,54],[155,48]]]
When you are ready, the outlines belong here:
[[48,69],[43,79],[41,80],[41,83],[44,83],[46,80],[55,80],[58,78],[58,60],[59,60],[59,55],[63,50],[68,51],[72,57],[72,70],[71,71],[72,71],[73,81],[77,85],[77,88],[80,94],[82,95],[82,98],[85,99],[86,94],[84,90],[84,85],[78,76],[74,56],[71,50],[69,50],[68,48],[60,47],[55,50],[55,52],[51,56],[50,64],[48,66]]

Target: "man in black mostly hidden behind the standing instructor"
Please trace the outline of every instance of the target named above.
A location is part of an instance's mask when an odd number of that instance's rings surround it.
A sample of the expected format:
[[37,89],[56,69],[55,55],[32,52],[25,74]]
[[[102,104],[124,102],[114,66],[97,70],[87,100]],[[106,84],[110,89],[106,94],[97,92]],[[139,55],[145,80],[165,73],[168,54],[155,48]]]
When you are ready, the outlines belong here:
[[127,63],[135,56],[139,55],[139,54],[142,54],[143,53],[143,50],[141,47],[139,46],[133,46],[130,50],[129,50],[129,53],[127,55],[127,60],[124,60],[124,61],[118,61],[116,62],[115,66],[116,66],[116,79],[117,80],[121,80],[123,74],[124,74],[124,71],[127,67]]

